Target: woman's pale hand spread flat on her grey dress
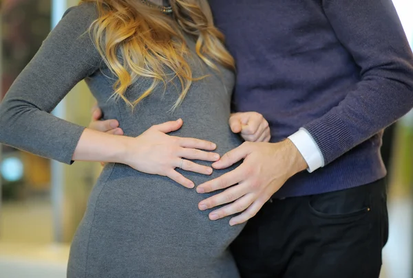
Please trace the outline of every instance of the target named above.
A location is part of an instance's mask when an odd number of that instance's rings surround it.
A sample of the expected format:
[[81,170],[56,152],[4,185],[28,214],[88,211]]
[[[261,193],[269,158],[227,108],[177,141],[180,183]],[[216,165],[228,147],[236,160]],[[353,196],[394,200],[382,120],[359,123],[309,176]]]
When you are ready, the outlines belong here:
[[180,129],[182,124],[182,119],[167,121],[151,126],[136,138],[128,137],[123,163],[140,172],[168,176],[184,187],[193,188],[193,182],[175,169],[178,167],[185,171],[209,175],[213,172],[212,167],[194,163],[189,159],[218,161],[220,155],[202,151],[215,150],[215,143],[167,135]]

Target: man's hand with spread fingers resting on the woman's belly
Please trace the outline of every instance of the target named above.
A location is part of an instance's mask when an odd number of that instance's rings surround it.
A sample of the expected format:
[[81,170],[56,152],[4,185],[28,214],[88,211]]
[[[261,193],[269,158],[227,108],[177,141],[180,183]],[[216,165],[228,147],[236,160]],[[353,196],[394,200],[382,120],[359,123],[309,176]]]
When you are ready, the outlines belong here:
[[198,193],[207,193],[230,187],[198,204],[199,209],[205,210],[230,203],[209,213],[211,220],[243,211],[231,218],[229,224],[246,222],[260,211],[288,178],[307,167],[306,161],[289,139],[279,143],[245,142],[224,154],[212,166],[224,169],[241,159],[244,159],[243,163],[235,170],[203,183],[196,189]]

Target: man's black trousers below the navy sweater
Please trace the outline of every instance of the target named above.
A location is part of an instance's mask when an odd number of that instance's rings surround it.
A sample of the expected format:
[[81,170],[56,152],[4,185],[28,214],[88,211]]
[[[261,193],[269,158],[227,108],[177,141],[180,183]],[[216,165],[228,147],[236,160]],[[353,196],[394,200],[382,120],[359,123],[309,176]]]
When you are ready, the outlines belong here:
[[231,244],[242,278],[377,278],[385,181],[267,202]]

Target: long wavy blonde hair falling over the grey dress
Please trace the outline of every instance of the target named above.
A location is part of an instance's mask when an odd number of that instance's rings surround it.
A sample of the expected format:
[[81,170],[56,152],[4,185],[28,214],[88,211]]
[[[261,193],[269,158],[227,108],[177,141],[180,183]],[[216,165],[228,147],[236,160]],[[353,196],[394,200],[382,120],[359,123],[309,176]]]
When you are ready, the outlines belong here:
[[[207,0],[170,0],[173,16],[140,0],[81,0],[80,4],[86,2],[96,3],[98,8],[98,19],[89,32],[107,67],[118,78],[114,96],[121,97],[132,108],[161,82],[166,88],[168,82],[178,78],[182,92],[172,107],[175,109],[192,82],[204,77],[193,77],[187,62],[191,56],[185,35],[196,41],[196,53],[208,67],[218,71],[216,62],[228,69],[235,67],[233,57],[224,47],[224,35],[213,24]],[[173,71],[172,76],[166,73],[167,69]],[[152,78],[153,82],[131,102],[125,91],[140,76]]]

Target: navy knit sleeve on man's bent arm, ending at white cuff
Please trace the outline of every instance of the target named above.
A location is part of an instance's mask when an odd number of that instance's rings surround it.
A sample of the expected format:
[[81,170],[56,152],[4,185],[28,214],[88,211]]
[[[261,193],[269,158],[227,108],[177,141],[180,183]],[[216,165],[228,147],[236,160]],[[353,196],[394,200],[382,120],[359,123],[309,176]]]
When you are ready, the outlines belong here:
[[328,164],[413,107],[413,56],[391,0],[324,0],[361,80],[324,116],[304,126]]

